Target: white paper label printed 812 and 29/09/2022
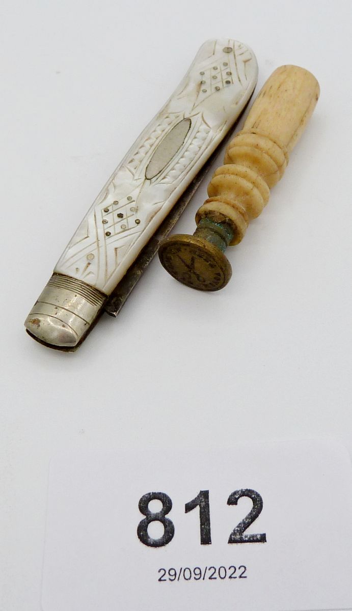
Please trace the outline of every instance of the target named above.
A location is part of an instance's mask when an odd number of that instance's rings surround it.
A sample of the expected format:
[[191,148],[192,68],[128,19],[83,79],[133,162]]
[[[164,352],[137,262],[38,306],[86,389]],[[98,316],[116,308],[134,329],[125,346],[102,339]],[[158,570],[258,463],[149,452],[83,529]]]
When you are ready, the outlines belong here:
[[334,442],[60,455],[43,609],[349,609],[351,541],[351,462]]

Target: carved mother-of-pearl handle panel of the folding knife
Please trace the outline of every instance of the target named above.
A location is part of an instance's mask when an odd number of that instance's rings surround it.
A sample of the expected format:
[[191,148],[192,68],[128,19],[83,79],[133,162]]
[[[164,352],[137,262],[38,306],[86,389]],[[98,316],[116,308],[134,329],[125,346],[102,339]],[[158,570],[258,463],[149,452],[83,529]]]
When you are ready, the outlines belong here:
[[257,82],[248,46],[209,40],[76,230],[54,272],[109,295],[229,131]]

